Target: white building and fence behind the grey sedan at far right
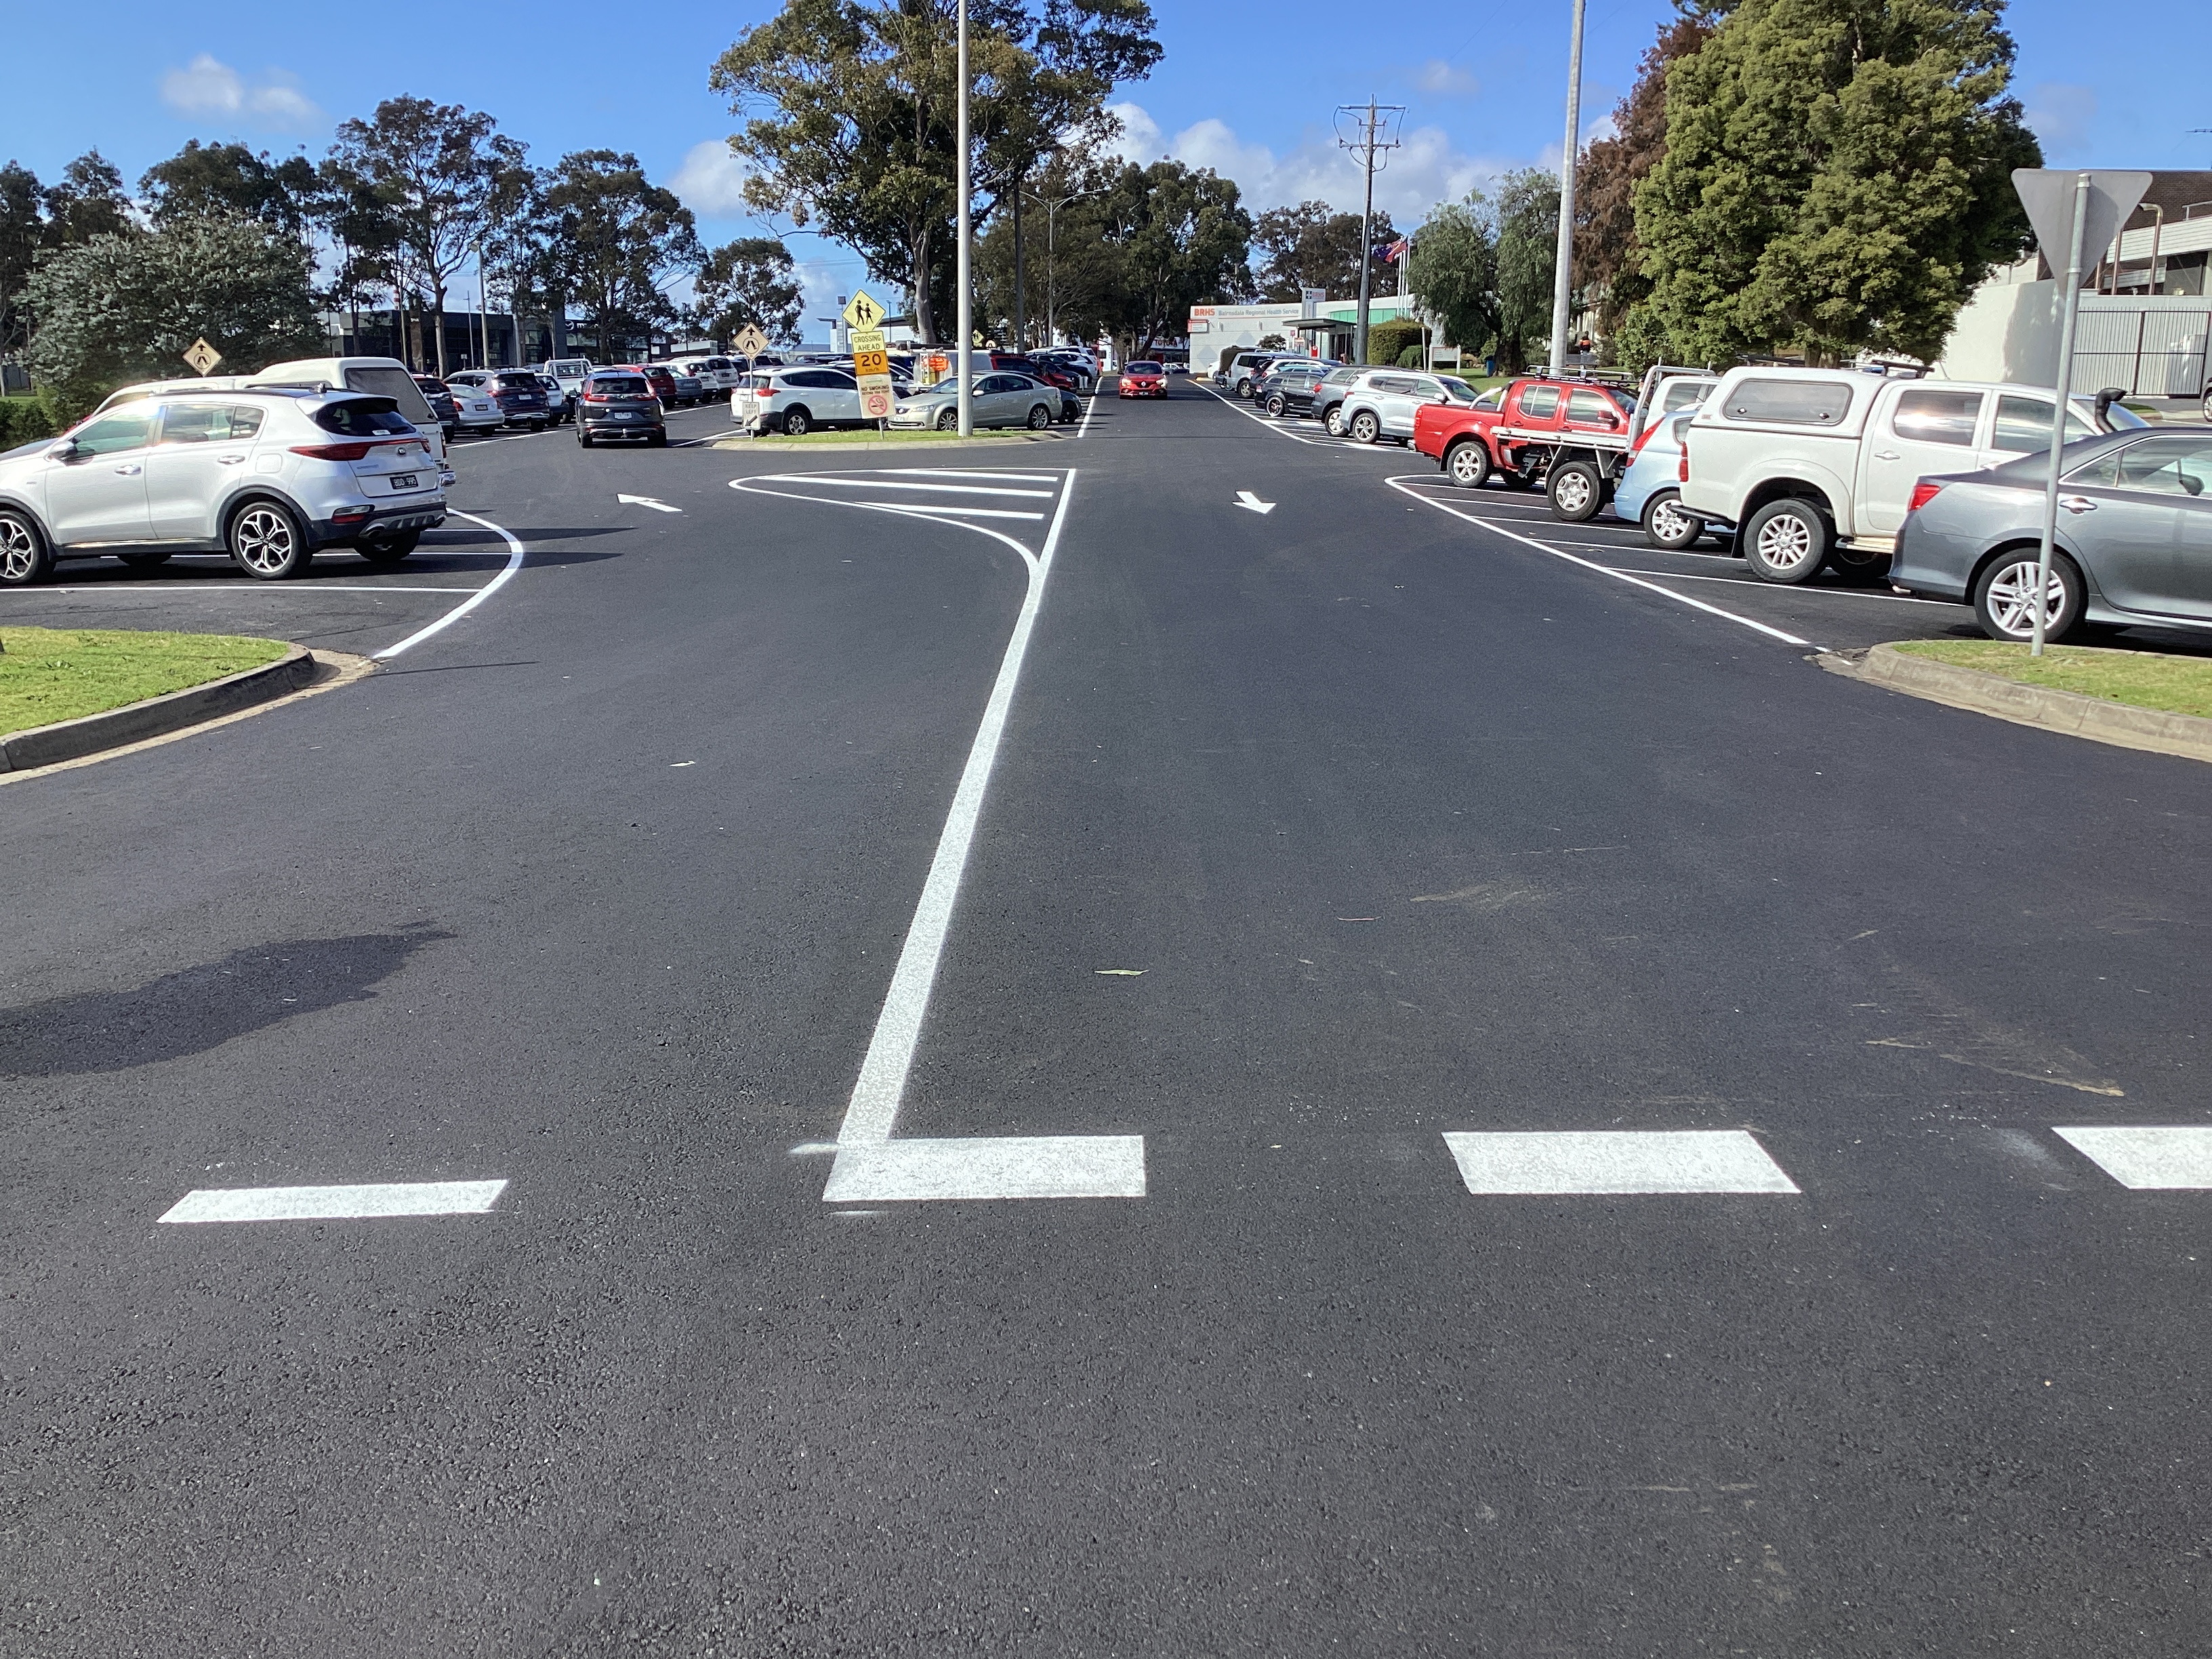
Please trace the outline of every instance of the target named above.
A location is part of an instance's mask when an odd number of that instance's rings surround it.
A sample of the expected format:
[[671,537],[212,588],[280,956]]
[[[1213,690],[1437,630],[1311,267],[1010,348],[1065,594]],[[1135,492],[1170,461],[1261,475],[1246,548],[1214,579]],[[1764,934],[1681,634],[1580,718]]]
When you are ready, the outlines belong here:
[[[2084,279],[2073,385],[2139,398],[2212,387],[2212,173],[2152,173],[2143,206]],[[1951,327],[1936,374],[2055,385],[2059,283],[2042,254],[1995,272]]]

